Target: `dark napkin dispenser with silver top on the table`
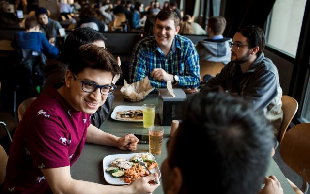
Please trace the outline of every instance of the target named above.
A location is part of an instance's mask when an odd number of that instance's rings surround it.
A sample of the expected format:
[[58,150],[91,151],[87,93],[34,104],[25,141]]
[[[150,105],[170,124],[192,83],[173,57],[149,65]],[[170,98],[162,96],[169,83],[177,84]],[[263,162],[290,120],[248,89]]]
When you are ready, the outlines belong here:
[[180,88],[173,88],[175,97],[169,94],[168,89],[159,89],[158,115],[162,126],[170,126],[172,120],[182,120],[183,106],[186,95]]

